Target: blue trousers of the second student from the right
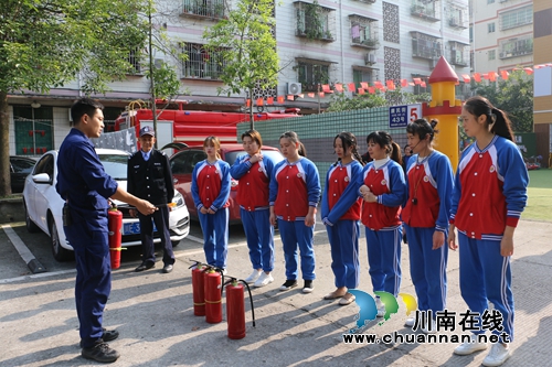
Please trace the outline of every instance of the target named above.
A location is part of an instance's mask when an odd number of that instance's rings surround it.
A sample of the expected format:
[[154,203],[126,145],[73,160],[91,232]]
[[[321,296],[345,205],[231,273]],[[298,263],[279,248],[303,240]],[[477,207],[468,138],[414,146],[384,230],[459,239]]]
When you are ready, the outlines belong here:
[[[448,246],[433,249],[435,228],[404,225],[408,237],[411,278],[414,283],[420,311],[435,312],[446,307]],[[445,234],[447,238],[447,234]]]

